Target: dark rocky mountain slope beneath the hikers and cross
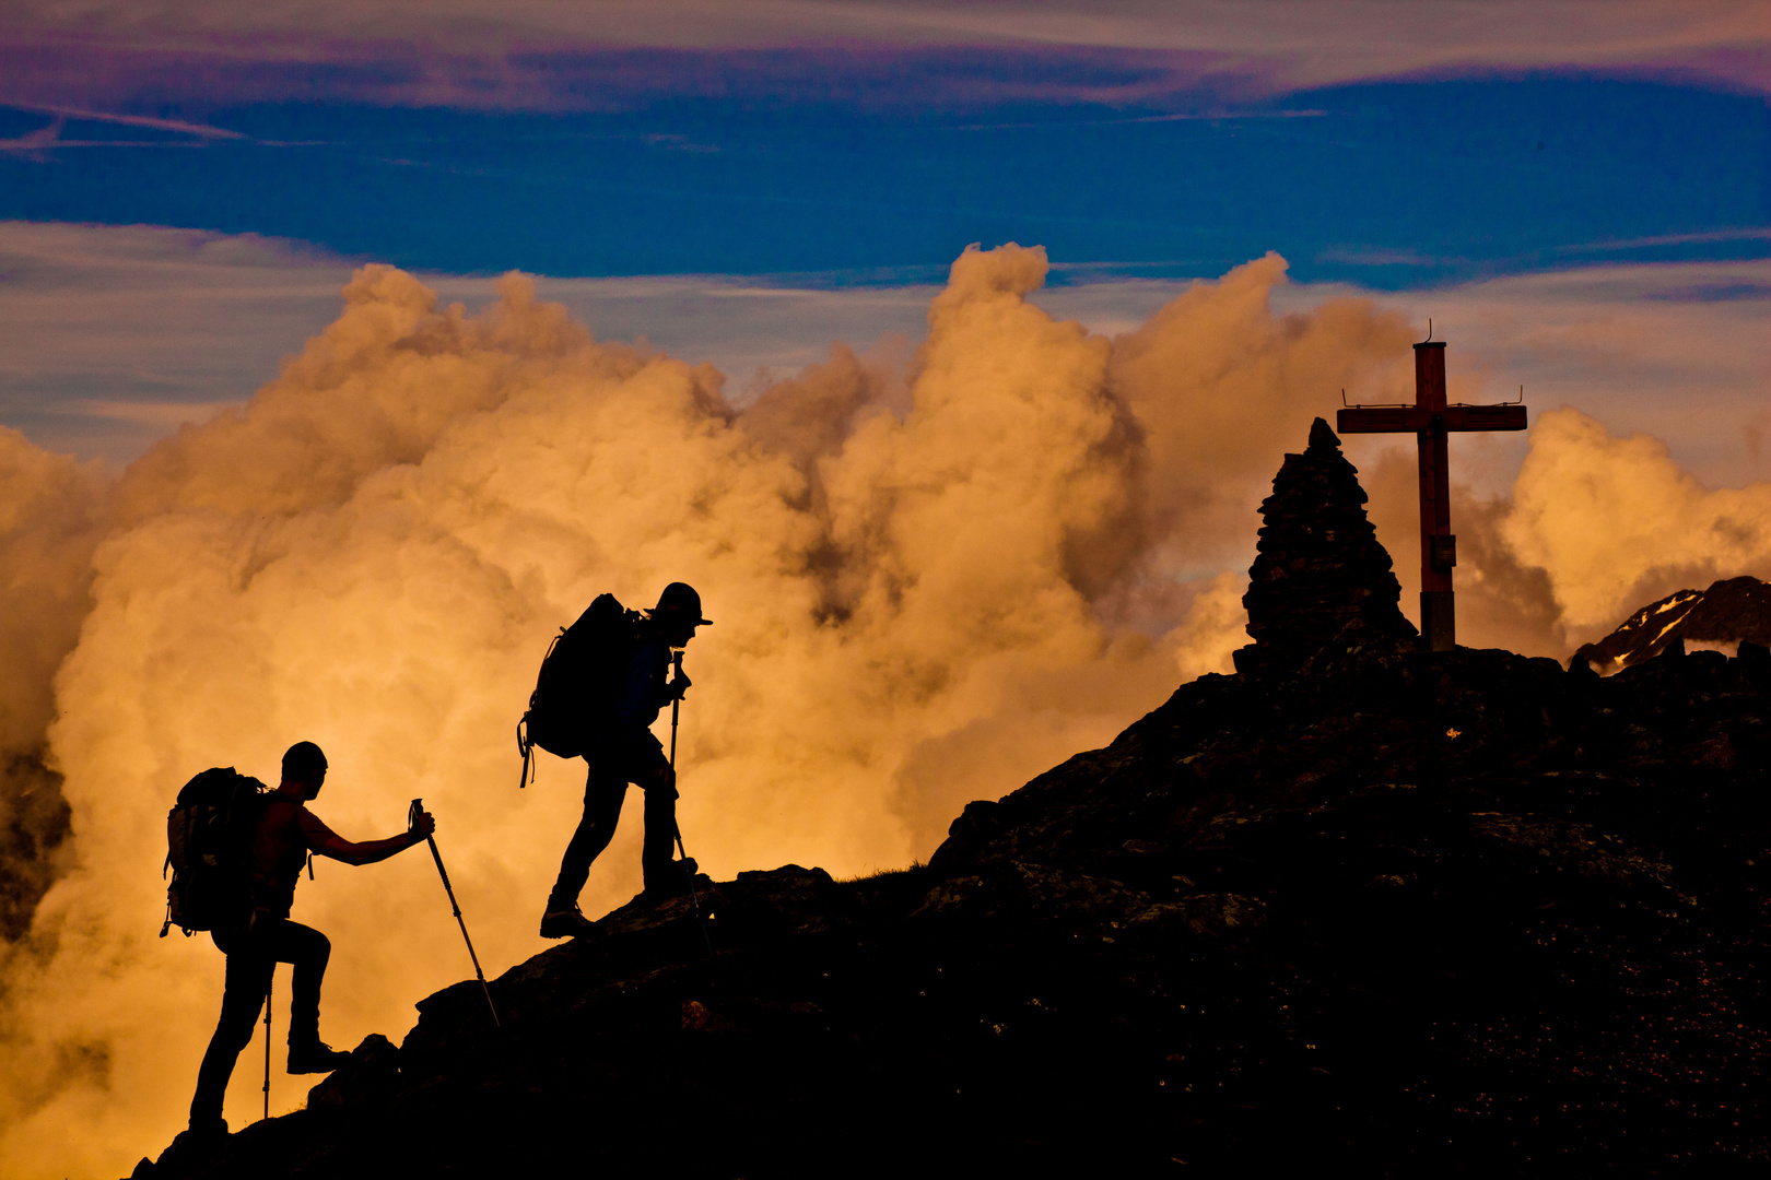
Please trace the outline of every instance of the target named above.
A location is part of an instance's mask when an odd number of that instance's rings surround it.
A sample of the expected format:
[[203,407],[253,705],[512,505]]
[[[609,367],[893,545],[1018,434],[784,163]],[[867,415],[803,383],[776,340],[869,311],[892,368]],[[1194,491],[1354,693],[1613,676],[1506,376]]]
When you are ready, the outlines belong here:
[[926,867],[703,883],[712,955],[627,906],[503,1030],[459,984],[136,1175],[1762,1175],[1771,653],[1601,679],[1362,605],[1263,655]]

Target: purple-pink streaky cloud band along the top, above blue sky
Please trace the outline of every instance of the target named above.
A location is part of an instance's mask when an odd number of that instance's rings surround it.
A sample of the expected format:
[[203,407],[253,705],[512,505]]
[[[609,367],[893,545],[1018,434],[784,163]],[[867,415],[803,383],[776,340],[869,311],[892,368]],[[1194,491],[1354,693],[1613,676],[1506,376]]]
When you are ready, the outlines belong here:
[[[1208,104],[1369,78],[1523,69],[1686,76],[1766,90],[1752,0],[1312,0],[1187,5],[710,0],[561,5],[388,0],[154,5],[46,0],[0,18],[16,99],[122,110],[331,97],[402,106],[599,108],[657,94],[868,106]],[[96,69],[94,62],[103,60]],[[889,85],[886,85],[889,83]]]

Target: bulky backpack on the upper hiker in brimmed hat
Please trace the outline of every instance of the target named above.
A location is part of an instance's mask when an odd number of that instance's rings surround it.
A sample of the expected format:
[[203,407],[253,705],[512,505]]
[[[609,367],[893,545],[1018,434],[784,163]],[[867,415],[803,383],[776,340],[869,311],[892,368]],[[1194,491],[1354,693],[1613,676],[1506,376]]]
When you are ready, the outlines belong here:
[[535,678],[530,709],[517,722],[519,787],[535,780],[535,747],[558,757],[579,757],[613,724],[641,623],[645,616],[623,607],[615,594],[599,594],[577,623],[554,635]]

